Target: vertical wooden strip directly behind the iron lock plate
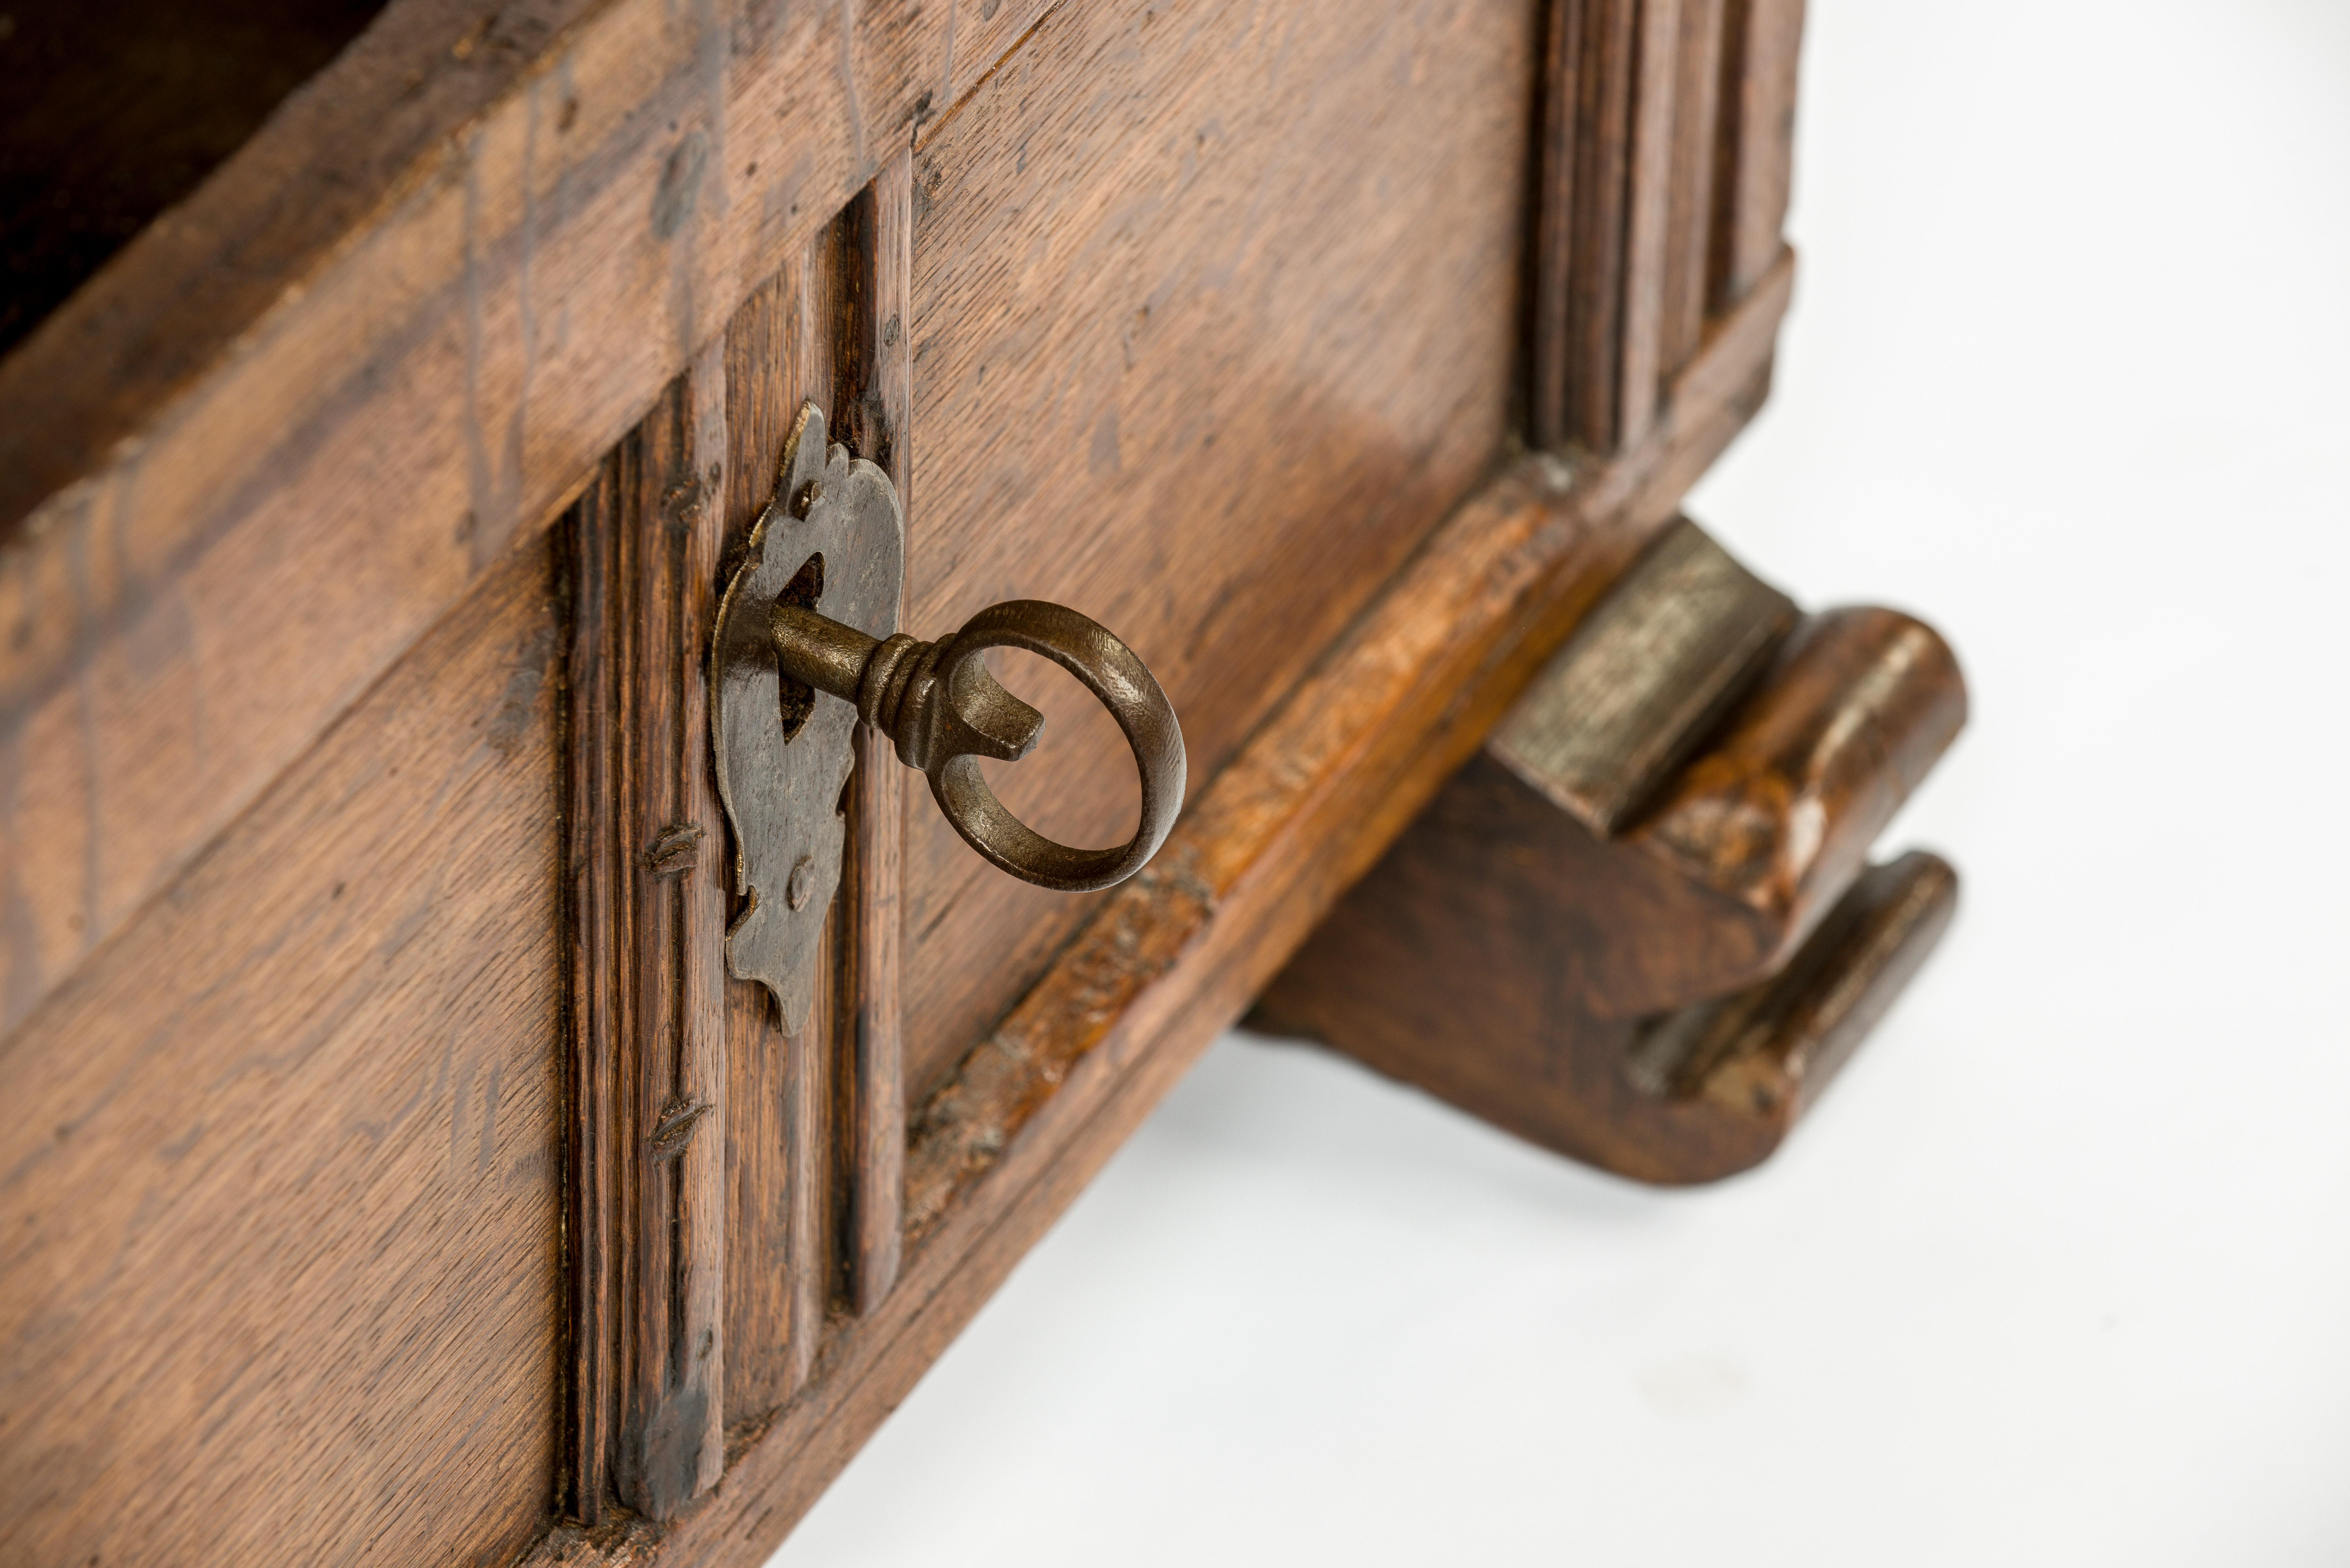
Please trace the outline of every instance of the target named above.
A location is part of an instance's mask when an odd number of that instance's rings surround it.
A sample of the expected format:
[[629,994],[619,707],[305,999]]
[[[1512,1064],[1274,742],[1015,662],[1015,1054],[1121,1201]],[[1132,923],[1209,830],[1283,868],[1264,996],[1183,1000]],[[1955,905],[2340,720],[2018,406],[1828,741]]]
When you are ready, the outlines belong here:
[[[907,484],[912,155],[893,158],[726,329],[726,538],[773,498],[801,402],[832,437]],[[905,1086],[898,1025],[898,882],[905,769],[855,736],[848,853],[806,1020],[731,980],[726,1133],[726,1413],[759,1422],[792,1401],[834,1305],[870,1309],[898,1272]]]

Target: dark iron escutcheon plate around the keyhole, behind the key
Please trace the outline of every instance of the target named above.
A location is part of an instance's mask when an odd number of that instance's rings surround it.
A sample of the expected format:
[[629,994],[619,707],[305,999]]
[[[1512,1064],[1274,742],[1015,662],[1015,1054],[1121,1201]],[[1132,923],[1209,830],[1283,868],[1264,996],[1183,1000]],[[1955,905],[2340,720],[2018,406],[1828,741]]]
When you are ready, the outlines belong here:
[[726,583],[710,649],[719,802],[745,898],[726,931],[726,969],[764,983],[797,1034],[815,1004],[815,947],[841,882],[841,790],[858,712],[785,684],[768,628],[785,595],[870,637],[898,630],[905,595],[898,489],[827,444],[815,404],[799,409],[783,447],[783,480]]

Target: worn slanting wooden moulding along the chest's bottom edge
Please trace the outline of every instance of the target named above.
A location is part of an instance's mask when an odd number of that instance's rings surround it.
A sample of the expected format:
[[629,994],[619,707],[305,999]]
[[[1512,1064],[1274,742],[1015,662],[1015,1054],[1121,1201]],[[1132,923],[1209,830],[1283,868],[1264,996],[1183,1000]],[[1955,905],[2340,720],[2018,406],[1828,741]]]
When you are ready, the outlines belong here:
[[531,1568],[773,1552],[1744,428],[1791,284],[1781,254],[1676,378],[1643,447],[1584,468],[1511,458],[1424,541],[1159,860],[921,1107],[895,1291],[830,1338],[792,1406],[733,1434],[726,1476],[677,1523],[557,1528]]

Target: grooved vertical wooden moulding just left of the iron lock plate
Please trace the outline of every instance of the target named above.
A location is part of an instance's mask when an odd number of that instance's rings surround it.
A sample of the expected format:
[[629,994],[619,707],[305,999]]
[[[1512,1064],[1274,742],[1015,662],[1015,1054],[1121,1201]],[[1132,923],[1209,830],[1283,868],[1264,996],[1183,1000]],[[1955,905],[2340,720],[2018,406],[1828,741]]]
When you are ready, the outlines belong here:
[[[717,386],[712,386],[717,383]],[[724,1460],[724,938],[700,705],[721,374],[571,512],[573,1512],[672,1516]]]

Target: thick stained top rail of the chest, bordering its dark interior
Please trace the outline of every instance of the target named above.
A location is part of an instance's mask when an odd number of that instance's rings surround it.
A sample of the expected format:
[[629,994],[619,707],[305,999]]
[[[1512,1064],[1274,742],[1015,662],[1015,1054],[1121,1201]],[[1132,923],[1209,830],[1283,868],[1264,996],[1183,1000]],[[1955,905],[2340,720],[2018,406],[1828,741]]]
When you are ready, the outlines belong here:
[[395,0],[0,360],[0,1027],[1034,14]]

